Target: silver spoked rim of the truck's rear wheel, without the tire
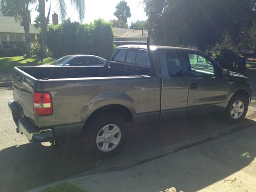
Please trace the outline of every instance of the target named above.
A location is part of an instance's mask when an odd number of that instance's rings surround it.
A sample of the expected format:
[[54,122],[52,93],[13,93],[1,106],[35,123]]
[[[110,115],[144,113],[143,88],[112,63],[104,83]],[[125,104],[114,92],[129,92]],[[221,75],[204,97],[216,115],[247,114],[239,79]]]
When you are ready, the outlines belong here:
[[104,126],[96,137],[96,144],[100,151],[110,152],[117,147],[121,140],[121,131],[117,125]]

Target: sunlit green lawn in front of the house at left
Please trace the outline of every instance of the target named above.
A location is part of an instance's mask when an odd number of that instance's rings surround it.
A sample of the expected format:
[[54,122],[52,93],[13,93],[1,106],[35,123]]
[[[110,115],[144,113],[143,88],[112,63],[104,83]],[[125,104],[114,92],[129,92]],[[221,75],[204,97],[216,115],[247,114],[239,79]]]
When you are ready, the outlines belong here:
[[56,59],[48,58],[27,58],[19,57],[0,57],[0,72],[11,72],[17,66],[39,66],[50,64]]

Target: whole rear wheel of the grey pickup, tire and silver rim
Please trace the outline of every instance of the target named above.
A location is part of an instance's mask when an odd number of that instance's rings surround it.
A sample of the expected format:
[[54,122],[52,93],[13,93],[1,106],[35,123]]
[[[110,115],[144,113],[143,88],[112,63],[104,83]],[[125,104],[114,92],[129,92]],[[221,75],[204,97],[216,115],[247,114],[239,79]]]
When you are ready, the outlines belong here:
[[116,114],[98,114],[86,125],[86,148],[99,159],[110,158],[123,148],[127,138],[126,122]]

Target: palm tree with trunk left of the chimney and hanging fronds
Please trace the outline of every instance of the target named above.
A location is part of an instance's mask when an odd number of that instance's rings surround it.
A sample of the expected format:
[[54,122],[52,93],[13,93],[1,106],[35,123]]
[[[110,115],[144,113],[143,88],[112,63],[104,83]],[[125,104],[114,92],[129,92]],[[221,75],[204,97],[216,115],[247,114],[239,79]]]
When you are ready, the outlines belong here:
[[[38,0],[38,12],[40,16],[40,26],[41,26],[41,49],[42,49],[42,56],[46,57],[46,28],[47,28],[47,23],[49,22],[49,16],[50,16],[50,10],[51,10],[51,3],[52,0],[50,0],[50,8],[48,11],[48,16],[45,16],[45,8],[46,8],[46,2],[49,0]],[[60,18],[63,20],[67,16],[67,6],[65,3],[65,0],[53,0],[57,1],[59,11],[60,11]],[[80,22],[84,19],[84,15],[86,13],[86,6],[85,6],[85,1],[84,0],[69,0],[71,5],[75,8],[75,10],[79,14],[79,19]]]

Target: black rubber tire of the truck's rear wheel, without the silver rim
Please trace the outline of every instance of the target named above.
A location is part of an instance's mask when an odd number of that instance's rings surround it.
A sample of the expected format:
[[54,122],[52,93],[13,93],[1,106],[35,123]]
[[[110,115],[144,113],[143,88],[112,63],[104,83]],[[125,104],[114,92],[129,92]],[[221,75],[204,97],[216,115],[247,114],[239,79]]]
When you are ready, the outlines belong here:
[[[119,135],[120,142],[117,145],[109,143],[108,146],[110,147],[110,145],[112,145],[113,150],[103,152],[99,149],[98,145],[101,145],[101,143],[97,145],[96,138],[98,134],[100,134],[101,129],[106,125],[116,125],[120,130],[121,136]],[[117,114],[97,114],[89,120],[89,122],[86,124],[85,129],[86,132],[84,132],[83,134],[83,140],[85,141],[83,142],[84,147],[86,147],[86,149],[92,154],[92,156],[97,159],[106,159],[113,157],[122,150],[127,139],[126,122],[122,116]],[[101,133],[103,133],[103,131]],[[112,135],[110,137],[115,137],[115,135]],[[102,144],[104,143],[102,142]]]

